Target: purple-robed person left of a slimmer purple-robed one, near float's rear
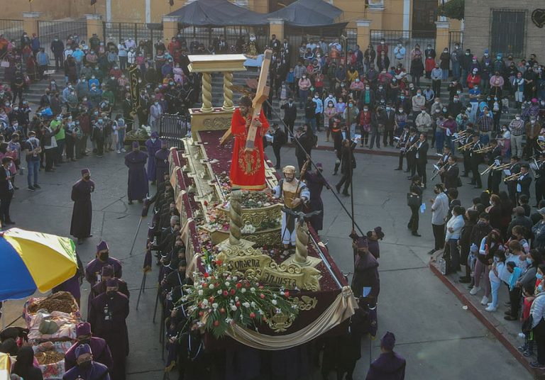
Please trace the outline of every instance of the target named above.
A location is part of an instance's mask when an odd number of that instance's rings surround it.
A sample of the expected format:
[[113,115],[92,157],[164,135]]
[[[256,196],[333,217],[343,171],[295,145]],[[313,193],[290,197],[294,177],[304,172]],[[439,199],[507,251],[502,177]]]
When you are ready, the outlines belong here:
[[133,199],[142,203],[149,192],[148,175],[145,172],[147,159],[148,155],[141,152],[138,141],[133,141],[133,151],[125,156],[125,164],[128,167],[128,204],[133,204]]

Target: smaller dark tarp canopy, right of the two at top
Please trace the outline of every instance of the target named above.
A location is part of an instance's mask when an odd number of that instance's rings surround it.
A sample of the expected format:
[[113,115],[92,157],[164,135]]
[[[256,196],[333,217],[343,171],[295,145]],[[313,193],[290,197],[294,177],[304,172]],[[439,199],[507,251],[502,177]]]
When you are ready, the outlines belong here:
[[321,0],[298,0],[267,18],[282,18],[287,26],[331,26],[343,11]]

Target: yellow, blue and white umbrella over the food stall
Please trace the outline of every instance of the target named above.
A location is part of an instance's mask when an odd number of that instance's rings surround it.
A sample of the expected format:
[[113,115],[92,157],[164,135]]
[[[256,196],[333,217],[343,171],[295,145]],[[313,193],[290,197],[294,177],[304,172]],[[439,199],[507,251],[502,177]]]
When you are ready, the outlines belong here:
[[19,228],[0,233],[0,301],[50,291],[76,270],[72,239]]

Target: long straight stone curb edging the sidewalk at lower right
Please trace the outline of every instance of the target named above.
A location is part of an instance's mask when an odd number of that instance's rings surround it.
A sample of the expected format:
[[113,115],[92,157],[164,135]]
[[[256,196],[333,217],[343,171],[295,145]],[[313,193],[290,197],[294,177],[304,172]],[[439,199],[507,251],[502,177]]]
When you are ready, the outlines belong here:
[[494,323],[492,323],[491,320],[489,320],[483,313],[480,313],[479,309],[476,308],[473,303],[470,301],[468,297],[466,297],[465,294],[463,294],[459,289],[454,286],[450,279],[448,279],[446,276],[444,276],[439,268],[436,267],[434,264],[436,259],[436,256],[434,255],[429,260],[429,269],[431,269],[431,272],[433,272],[443,284],[446,285],[448,289],[450,289],[453,294],[458,297],[460,301],[466,306],[468,306],[468,309],[477,317],[478,320],[480,320],[480,323],[483,323],[488,330],[496,337],[497,340],[499,340],[502,345],[512,354],[512,356],[519,361],[520,364],[524,366],[524,368],[529,371],[532,376],[534,376],[534,379],[545,379],[545,371],[540,371],[539,369],[534,369],[530,367],[530,362],[524,355],[522,355],[522,352],[519,352],[517,350],[517,347],[514,347],[512,345],[512,342],[507,339],[506,334],[507,331],[504,328],[501,328],[500,326],[495,326]]

